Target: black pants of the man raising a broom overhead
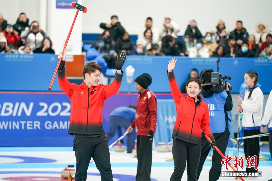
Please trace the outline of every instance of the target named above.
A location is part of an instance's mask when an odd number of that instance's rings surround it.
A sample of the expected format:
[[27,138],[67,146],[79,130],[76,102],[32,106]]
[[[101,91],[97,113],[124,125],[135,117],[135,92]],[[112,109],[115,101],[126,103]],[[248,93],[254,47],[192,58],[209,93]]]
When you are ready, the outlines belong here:
[[86,181],[91,158],[100,172],[101,180],[112,181],[111,156],[105,135],[92,138],[75,136],[73,143],[77,160],[75,181]]

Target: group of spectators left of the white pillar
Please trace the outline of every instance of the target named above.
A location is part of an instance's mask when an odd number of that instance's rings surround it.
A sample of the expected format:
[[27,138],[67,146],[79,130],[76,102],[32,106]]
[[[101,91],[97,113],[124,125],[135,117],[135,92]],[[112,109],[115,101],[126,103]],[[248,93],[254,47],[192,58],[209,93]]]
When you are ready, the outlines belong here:
[[29,20],[21,13],[14,25],[9,24],[0,14],[1,53],[55,53],[47,33],[39,22]]

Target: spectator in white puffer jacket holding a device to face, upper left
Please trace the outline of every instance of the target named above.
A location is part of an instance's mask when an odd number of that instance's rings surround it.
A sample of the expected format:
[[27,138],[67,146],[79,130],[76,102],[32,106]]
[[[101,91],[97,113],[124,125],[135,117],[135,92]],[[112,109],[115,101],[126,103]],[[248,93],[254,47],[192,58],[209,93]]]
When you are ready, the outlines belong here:
[[37,21],[33,21],[30,28],[26,27],[20,36],[23,43],[30,46],[31,50],[41,47],[42,40],[48,37]]

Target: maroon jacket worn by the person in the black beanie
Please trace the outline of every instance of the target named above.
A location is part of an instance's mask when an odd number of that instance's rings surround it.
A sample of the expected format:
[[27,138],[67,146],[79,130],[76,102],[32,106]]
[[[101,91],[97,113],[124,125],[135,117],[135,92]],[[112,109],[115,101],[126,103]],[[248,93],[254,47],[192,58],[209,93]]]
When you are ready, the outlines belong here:
[[157,98],[149,89],[139,94],[135,119],[130,126],[135,127],[137,135],[147,136],[149,130],[156,132]]

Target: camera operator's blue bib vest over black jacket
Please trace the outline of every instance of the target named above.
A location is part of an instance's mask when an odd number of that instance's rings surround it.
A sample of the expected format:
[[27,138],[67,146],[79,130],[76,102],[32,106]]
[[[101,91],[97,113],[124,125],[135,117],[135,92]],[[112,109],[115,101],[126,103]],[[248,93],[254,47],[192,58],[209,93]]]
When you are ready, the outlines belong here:
[[210,128],[212,133],[223,133],[228,126],[228,114],[226,111],[231,111],[232,99],[230,92],[226,91],[215,93],[209,85],[208,90],[203,86],[202,98],[209,106],[210,113]]

